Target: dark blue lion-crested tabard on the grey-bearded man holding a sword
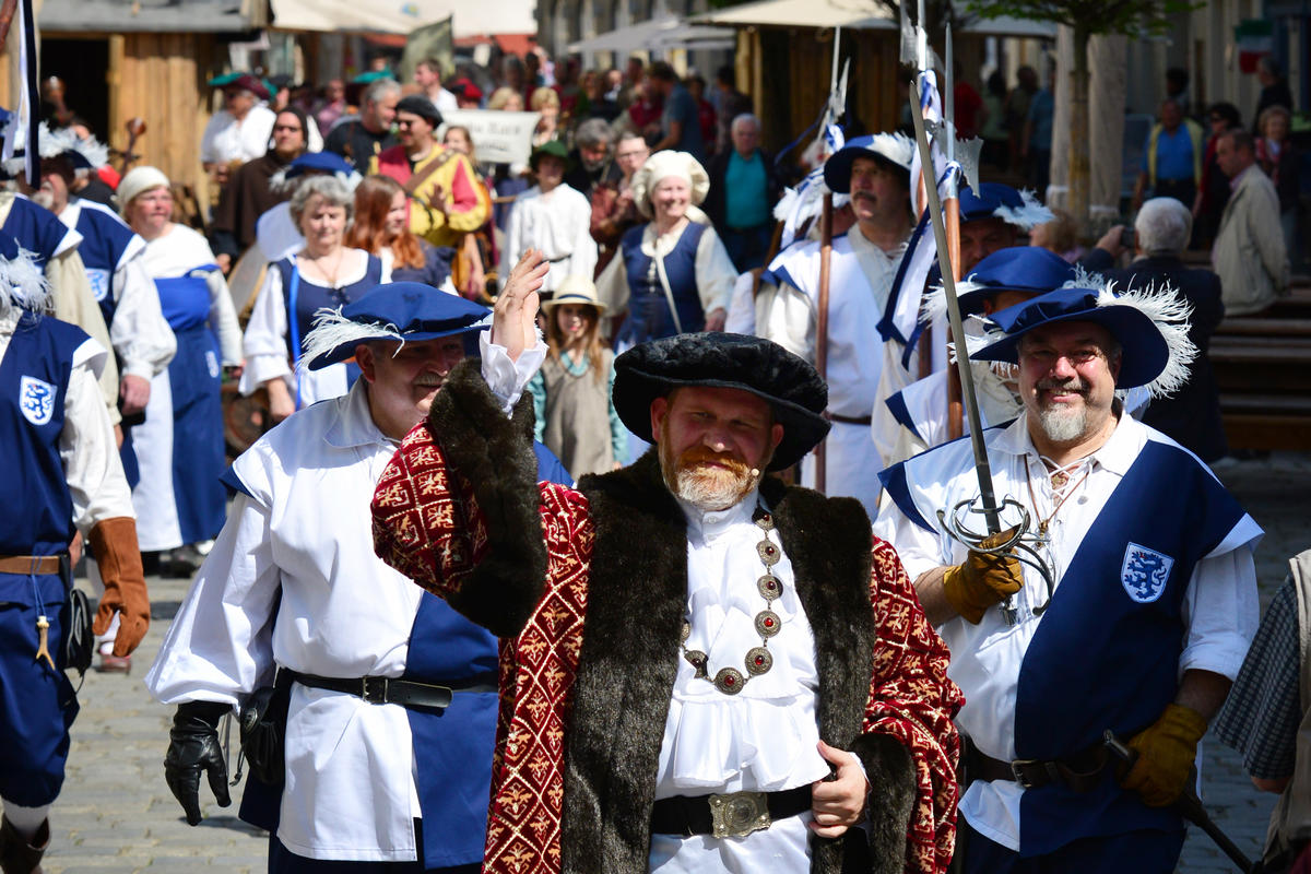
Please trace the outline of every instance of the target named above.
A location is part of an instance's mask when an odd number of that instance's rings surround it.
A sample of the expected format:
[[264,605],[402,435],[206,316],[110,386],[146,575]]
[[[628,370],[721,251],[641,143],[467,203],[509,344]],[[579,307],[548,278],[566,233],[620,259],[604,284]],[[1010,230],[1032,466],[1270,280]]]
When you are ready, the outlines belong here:
[[[1020,666],[1015,750],[1058,759],[1101,740],[1127,739],[1177,691],[1181,604],[1196,563],[1243,519],[1206,468],[1148,440],[1080,542]],[[1020,802],[1020,856],[1080,837],[1179,831],[1180,815],[1118,788],[1114,768],[1076,793],[1054,782]]]

